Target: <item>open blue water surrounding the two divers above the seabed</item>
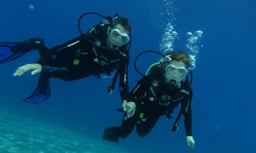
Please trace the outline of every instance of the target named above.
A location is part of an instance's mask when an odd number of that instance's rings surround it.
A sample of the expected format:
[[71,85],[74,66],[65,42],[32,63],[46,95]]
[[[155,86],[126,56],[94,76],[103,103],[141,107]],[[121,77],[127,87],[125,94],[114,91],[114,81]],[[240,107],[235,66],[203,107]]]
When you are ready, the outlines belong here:
[[[171,9],[166,3],[171,2]],[[32,4],[35,8],[30,9]],[[194,97],[192,152],[254,152],[255,133],[255,50],[256,2],[247,1],[18,1],[9,0],[0,6],[0,41],[20,41],[40,36],[48,47],[79,36],[75,26],[79,16],[95,11],[104,16],[118,12],[132,24],[130,89],[140,75],[133,60],[141,51],[159,51],[159,44],[168,22],[179,33],[174,50],[185,50],[186,32],[202,30],[200,53],[196,59],[192,88]],[[173,11],[172,11],[173,10]],[[167,14],[166,12],[171,12]],[[85,29],[100,18],[89,17]],[[81,135],[102,140],[104,128],[120,125],[122,114],[118,88],[111,95],[111,80],[86,78],[74,82],[51,79],[51,97],[41,104],[21,102],[37,86],[39,75],[29,73],[13,77],[16,68],[39,58],[31,52],[10,63],[0,65],[0,109],[53,123]],[[144,67],[158,60],[148,56]],[[187,152],[184,124],[171,132],[172,121],[161,118],[144,138],[135,131],[119,144],[111,144],[127,152]]]

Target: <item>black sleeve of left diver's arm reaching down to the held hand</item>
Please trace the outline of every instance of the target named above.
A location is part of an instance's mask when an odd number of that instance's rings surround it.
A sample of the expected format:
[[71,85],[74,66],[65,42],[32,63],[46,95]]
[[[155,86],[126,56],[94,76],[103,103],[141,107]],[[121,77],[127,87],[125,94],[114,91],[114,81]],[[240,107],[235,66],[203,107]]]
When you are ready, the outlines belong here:
[[119,63],[119,92],[123,100],[127,100],[127,95],[129,93],[129,84],[128,84],[128,65],[129,57],[121,59]]

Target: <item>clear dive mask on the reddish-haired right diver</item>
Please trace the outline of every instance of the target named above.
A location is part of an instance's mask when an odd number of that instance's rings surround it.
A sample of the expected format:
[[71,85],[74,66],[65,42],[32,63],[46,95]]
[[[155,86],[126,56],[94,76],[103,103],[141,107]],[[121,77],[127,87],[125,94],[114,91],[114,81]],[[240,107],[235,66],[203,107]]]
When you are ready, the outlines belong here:
[[165,74],[167,75],[167,78],[184,79],[188,74],[188,69],[183,66],[177,67],[173,64],[169,64],[165,67]]

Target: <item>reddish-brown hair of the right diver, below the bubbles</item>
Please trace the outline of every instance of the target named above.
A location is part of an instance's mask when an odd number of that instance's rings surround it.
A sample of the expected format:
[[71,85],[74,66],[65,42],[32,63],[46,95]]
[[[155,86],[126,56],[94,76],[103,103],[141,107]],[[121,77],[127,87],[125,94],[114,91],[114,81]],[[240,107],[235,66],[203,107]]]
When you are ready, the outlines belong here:
[[166,55],[171,55],[171,60],[182,61],[186,65],[187,69],[189,69],[191,66],[190,58],[183,51],[167,51]]

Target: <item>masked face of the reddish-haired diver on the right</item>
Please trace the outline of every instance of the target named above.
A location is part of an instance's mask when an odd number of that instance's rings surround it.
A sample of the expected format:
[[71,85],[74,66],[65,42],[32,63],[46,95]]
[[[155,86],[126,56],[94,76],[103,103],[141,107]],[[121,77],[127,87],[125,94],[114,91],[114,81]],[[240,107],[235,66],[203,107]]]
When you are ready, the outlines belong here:
[[183,61],[171,61],[165,67],[165,79],[175,85],[180,84],[188,74],[188,69]]

